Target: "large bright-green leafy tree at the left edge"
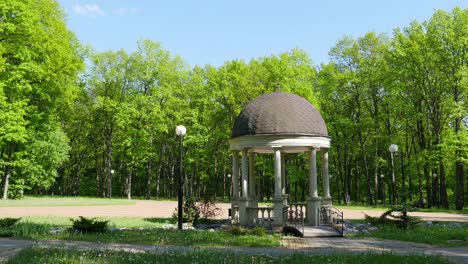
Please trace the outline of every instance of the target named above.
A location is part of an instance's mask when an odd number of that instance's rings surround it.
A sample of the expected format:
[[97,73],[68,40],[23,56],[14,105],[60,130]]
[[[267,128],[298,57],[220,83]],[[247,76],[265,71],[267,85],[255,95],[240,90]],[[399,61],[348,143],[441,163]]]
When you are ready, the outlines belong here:
[[[51,172],[64,160],[62,150],[49,150],[47,157],[56,158],[51,163],[27,151],[39,154],[48,144],[66,142],[59,109],[72,98],[83,62],[57,2],[6,0],[0,10],[0,164],[6,199],[11,180],[26,177],[28,171],[46,177],[43,187],[56,176]],[[49,132],[53,135],[43,134]],[[43,173],[37,170],[41,167]]]

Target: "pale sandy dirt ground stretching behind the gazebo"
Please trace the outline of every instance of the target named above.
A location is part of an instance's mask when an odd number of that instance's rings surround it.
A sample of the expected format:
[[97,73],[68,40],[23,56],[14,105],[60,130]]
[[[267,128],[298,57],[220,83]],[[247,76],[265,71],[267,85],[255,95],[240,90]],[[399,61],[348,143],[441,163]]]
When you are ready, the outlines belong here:
[[[223,211],[220,218],[228,217],[228,203],[216,204]],[[68,206],[68,207],[0,207],[0,217],[21,216],[66,216],[66,217],[171,217],[177,202],[175,201],[136,201],[133,205],[106,206]],[[343,209],[345,219],[364,219],[364,215],[380,216],[384,211]],[[468,222],[468,214],[449,213],[421,213],[410,215],[419,216],[423,220]]]

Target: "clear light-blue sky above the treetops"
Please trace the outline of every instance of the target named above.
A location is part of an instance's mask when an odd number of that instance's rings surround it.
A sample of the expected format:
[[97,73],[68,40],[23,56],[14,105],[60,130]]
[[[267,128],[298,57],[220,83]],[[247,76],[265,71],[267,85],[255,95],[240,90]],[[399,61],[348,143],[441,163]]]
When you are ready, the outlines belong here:
[[315,64],[343,36],[387,33],[466,0],[59,0],[68,27],[98,51],[158,41],[190,66],[305,50]]

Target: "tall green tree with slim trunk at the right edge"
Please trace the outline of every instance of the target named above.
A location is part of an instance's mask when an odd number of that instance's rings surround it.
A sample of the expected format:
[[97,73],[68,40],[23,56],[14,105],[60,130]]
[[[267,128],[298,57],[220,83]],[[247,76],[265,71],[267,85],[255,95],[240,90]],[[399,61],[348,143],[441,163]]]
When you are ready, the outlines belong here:
[[[449,89],[450,98],[448,101],[448,120],[454,131],[455,147],[455,177],[456,177],[456,198],[455,206],[457,210],[464,206],[464,163],[466,162],[466,145],[463,146],[466,138],[466,124],[463,128],[463,118],[468,115],[468,9],[455,8],[451,13],[439,10],[436,11],[429,22],[425,24],[427,28],[428,45],[434,50],[436,65],[443,78],[443,85]],[[465,141],[466,142],[466,141]],[[445,173],[443,163],[439,168],[441,178],[441,199],[443,206],[448,208],[446,193]]]

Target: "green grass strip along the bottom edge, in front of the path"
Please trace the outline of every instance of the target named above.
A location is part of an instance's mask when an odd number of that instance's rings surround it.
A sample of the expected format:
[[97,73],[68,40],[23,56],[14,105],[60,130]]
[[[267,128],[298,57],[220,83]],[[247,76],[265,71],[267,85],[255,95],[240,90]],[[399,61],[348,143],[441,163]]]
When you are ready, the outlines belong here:
[[284,255],[247,254],[223,250],[196,249],[162,253],[137,253],[122,251],[41,249],[30,248],[10,259],[9,264],[22,263],[452,263],[441,257],[400,256],[391,253],[333,253],[315,255],[292,253]]

